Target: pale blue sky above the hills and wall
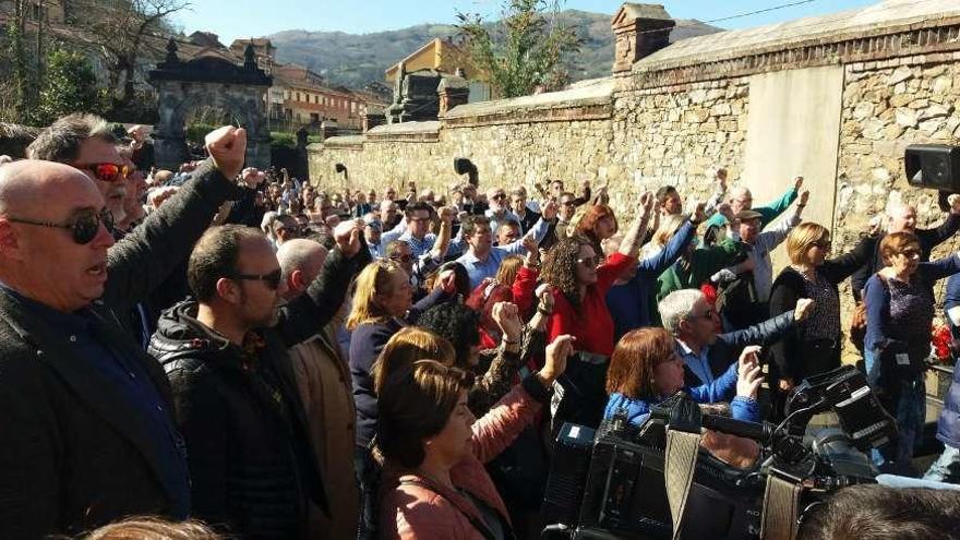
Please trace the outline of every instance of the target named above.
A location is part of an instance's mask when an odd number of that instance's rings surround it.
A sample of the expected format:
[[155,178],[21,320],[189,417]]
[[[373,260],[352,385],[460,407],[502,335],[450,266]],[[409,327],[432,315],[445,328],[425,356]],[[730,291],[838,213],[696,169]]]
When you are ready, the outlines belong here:
[[[635,0],[636,1],[636,0]],[[677,19],[710,21],[800,0],[657,0]],[[724,28],[833,13],[879,0],[813,0],[768,13],[715,23]],[[495,16],[502,0],[193,0],[177,22],[187,33],[214,32],[228,44],[284,29],[341,31],[350,34],[396,29],[422,23],[454,23],[456,10]],[[616,0],[566,0],[564,8],[613,14]]]

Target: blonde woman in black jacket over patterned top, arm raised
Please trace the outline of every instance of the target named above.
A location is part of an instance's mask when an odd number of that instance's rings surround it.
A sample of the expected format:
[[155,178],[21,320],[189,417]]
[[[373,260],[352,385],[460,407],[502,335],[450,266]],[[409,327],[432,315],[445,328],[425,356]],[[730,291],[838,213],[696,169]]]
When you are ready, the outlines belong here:
[[770,316],[792,311],[801,298],[816,302],[813,315],[788,332],[769,350],[769,374],[773,416],[783,412],[783,399],[804,379],[840,367],[840,293],[838,285],[868,259],[859,249],[836,259],[830,252],[830,231],[815,223],[796,226],[787,237],[790,266],[783,268],[770,289]]

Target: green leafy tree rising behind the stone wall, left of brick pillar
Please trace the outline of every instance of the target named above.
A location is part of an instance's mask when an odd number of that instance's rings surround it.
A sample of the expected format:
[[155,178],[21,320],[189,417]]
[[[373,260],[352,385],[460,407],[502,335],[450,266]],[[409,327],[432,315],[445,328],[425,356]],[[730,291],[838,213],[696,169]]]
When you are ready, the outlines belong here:
[[470,61],[497,97],[532,94],[567,82],[567,56],[580,49],[576,26],[559,22],[562,0],[504,0],[501,20],[457,12]]

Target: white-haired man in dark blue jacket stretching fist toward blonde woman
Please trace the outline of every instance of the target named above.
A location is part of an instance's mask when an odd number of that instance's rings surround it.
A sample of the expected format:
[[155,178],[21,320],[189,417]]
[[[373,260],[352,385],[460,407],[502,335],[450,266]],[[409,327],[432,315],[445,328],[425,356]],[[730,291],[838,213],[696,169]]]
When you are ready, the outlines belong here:
[[676,340],[676,353],[683,359],[687,386],[712,384],[736,361],[747,345],[760,345],[779,338],[794,323],[804,321],[813,310],[813,300],[801,299],[796,309],[742,331],[718,334],[719,316],[697,289],[671,292],[659,303],[663,328]]

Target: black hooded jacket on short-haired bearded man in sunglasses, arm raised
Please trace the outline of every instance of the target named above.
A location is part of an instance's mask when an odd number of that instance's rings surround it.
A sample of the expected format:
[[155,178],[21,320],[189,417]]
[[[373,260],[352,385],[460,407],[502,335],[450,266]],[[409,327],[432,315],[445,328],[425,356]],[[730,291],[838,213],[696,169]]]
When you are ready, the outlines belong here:
[[369,260],[365,247],[352,260],[331,252],[277,326],[256,332],[263,343],[254,353],[200,324],[195,302],[160,319],[149,351],[173,387],[195,517],[243,538],[296,539],[311,507],[327,509],[287,349],[333,319]]

